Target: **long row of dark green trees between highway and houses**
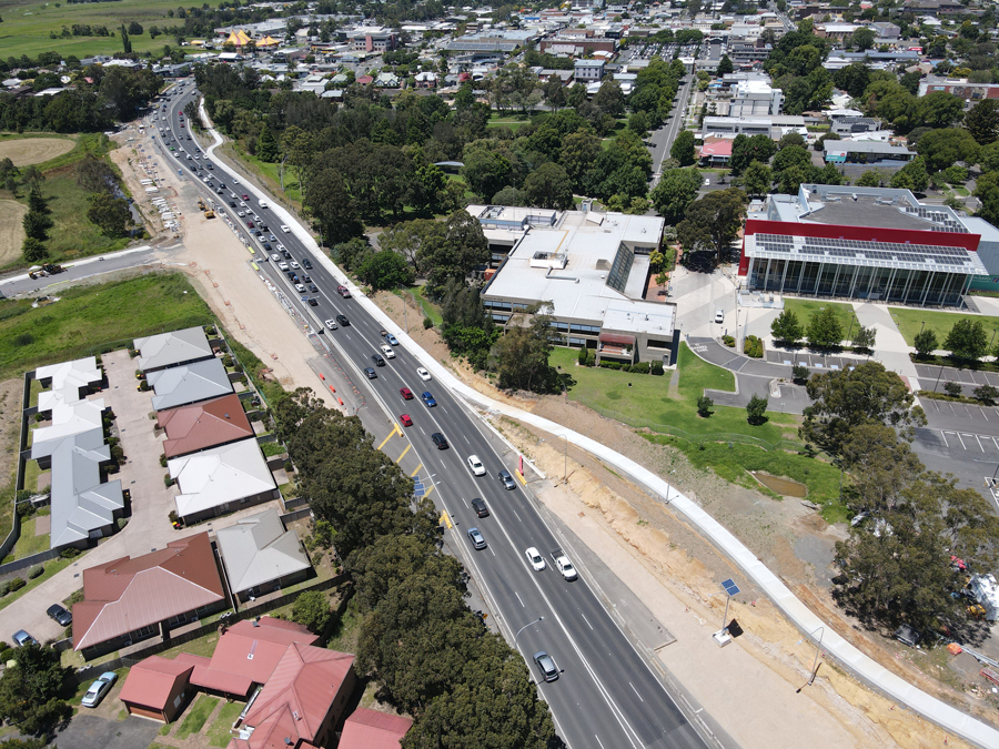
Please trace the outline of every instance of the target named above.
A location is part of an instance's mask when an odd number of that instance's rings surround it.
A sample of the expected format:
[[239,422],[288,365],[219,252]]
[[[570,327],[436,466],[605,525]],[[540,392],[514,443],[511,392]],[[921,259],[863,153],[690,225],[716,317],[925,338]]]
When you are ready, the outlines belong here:
[[403,747],[551,746],[552,717],[523,659],[465,605],[466,574],[441,550],[432,503],[413,499],[412,479],[356,417],[311,391],[284,396],[274,415],[355,584],[357,667],[415,719]]

